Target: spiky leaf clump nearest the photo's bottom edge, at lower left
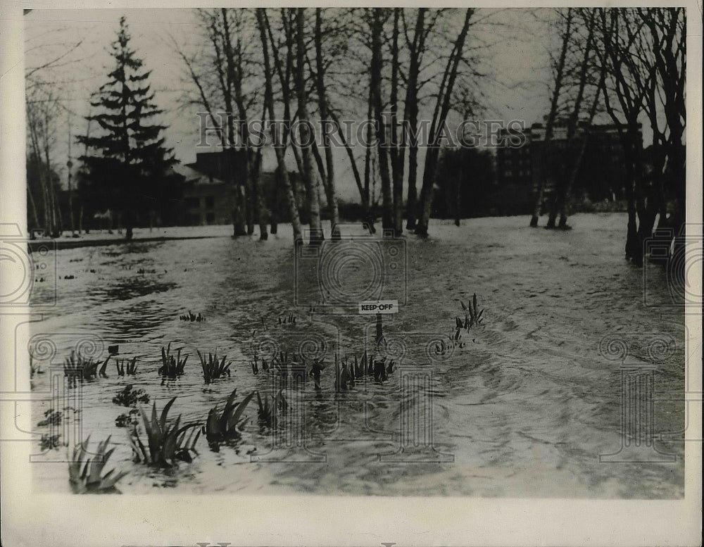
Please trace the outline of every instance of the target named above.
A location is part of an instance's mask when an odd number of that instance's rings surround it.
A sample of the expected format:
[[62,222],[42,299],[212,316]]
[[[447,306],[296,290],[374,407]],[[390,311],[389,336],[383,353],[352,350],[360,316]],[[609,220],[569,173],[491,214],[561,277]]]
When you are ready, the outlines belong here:
[[108,436],[105,441],[98,444],[98,448],[93,453],[93,459],[86,458],[89,439],[90,436],[73,448],[73,455],[68,463],[68,477],[71,488],[74,493],[115,492],[115,483],[122,479],[127,472],[115,473],[115,470],[111,469],[106,474],[102,474],[103,468],[115,450],[115,448],[111,448],[106,452],[110,437]]

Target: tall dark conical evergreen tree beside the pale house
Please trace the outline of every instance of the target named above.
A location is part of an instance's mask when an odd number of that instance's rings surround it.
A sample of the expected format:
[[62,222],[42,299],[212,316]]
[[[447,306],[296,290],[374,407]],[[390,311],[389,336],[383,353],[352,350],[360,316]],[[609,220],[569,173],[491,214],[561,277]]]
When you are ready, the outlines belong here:
[[86,153],[82,191],[89,208],[110,208],[122,217],[126,238],[132,227],[148,215],[163,213],[164,200],[172,194],[173,177],[168,168],[176,163],[172,149],[165,148],[164,125],[145,123],[163,111],[153,103],[142,60],[130,48],[125,18],[120,18],[118,38],[111,44],[115,68],[108,82],[94,94],[91,104],[98,113],[87,116],[101,134],[79,137]]

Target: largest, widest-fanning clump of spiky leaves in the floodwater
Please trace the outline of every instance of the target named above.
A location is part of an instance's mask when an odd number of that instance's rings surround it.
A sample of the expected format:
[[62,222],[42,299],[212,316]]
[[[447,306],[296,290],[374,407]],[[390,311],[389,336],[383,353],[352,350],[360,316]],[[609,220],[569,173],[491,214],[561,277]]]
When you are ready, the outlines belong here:
[[[200,436],[200,422],[189,422],[180,426],[181,416],[177,417],[175,423],[167,423],[168,413],[171,405],[176,401],[172,398],[161,411],[161,417],[157,416],[156,403],[151,408],[151,419],[147,417],[144,410],[141,410],[144,430],[147,436],[149,450],[144,447],[144,443],[137,432],[137,428],[132,430],[130,443],[134,460],[137,463],[154,465],[157,467],[172,467],[176,460],[191,462],[191,452],[196,455],[196,441]],[[191,432],[189,433],[189,429]]]

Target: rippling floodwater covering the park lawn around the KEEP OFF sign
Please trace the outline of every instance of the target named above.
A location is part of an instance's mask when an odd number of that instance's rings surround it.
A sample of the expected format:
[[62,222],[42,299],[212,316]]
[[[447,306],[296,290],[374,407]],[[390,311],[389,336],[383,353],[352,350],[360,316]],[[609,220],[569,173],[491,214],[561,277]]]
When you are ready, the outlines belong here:
[[[56,351],[35,351],[44,373],[32,379],[32,422],[70,406],[49,389],[71,348],[104,359],[117,344],[118,358],[137,356],[137,375],[119,377],[111,358],[107,378],[64,391],[74,402],[80,392],[80,403],[52,433],[68,438],[70,425],[92,442],[111,435],[107,468],[129,471],[122,493],[681,498],[681,308],[649,305],[669,301],[666,274],[650,265],[644,277],[625,262],[624,215],[571,221],[570,232],[532,230],[522,217],[434,222],[427,240],[326,243],[338,246],[327,247],[337,253],[330,260],[306,249],[294,260],[287,226],[265,242],[233,240],[222,227],[222,237],[210,239],[56,251],[56,306],[43,308],[30,341],[49,339]],[[352,250],[331,251],[343,246]],[[334,294],[316,292],[321,276]],[[461,329],[453,346],[455,317],[465,317],[460,300],[473,294],[482,323]],[[33,296],[51,298],[51,282],[35,284]],[[344,305],[377,297],[401,304],[384,315],[385,350],[374,348],[375,316]],[[189,311],[206,321],[180,320]],[[289,314],[296,321],[279,325]],[[157,369],[169,343],[189,358],[182,377],[162,381]],[[334,353],[352,359],[365,347],[395,358],[393,372],[337,392]],[[226,355],[232,376],[205,384],[196,349]],[[308,363],[322,358],[322,389],[311,377],[281,386],[271,372],[254,375],[253,351],[261,358],[274,350]],[[622,396],[624,363],[646,366],[641,394],[653,415],[641,412],[628,429],[646,432],[642,439],[623,432],[622,410],[629,416],[635,404]],[[182,422],[204,424],[235,388],[239,398],[283,388],[288,408],[272,430],[258,424],[254,401],[240,441],[215,451],[201,436],[192,463],[158,470],[132,462],[128,429],[115,425],[128,409],[112,398],[127,384],[159,410],[176,396],[170,417]],[[37,491],[70,491],[66,463],[50,463],[66,451],[42,453],[37,443],[35,459],[46,462],[32,466]]]

